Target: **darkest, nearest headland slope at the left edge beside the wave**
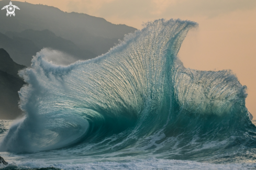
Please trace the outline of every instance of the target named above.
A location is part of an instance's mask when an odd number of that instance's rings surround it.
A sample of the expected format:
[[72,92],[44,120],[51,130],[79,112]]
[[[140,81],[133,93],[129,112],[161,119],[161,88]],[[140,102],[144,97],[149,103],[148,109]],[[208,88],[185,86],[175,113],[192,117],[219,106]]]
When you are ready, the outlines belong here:
[[21,115],[18,91],[25,82],[17,74],[24,68],[24,65],[15,63],[4,49],[0,49],[0,119],[15,119]]

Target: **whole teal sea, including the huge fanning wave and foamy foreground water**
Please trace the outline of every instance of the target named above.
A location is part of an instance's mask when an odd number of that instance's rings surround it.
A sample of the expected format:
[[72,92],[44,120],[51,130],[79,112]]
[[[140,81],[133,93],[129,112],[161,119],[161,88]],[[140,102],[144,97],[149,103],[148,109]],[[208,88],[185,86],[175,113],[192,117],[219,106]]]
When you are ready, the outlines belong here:
[[9,163],[0,168],[256,169],[247,87],[230,70],[187,69],[177,56],[196,27],[148,22],[108,53],[69,65],[38,52],[19,72],[24,117],[0,120]]

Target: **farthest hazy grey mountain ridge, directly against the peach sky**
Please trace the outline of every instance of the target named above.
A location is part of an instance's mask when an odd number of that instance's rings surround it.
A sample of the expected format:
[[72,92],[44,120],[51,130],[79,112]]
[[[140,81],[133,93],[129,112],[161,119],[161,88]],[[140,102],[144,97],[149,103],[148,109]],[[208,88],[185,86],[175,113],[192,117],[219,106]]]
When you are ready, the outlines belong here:
[[[118,43],[118,39],[123,39],[125,34],[136,30],[86,14],[65,13],[46,5],[12,2],[20,10],[15,10],[15,17],[6,17],[6,10],[0,10],[0,32],[48,29],[56,36],[71,40],[78,47],[96,55],[106,53]],[[8,4],[9,0],[0,1],[0,6]]]

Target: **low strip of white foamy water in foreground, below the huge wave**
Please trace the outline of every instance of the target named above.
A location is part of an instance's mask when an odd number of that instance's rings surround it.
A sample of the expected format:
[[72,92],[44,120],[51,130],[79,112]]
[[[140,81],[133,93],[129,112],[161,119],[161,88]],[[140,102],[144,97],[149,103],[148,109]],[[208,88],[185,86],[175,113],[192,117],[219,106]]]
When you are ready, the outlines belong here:
[[[194,161],[163,160],[148,158],[146,160],[126,160],[123,162],[94,162],[83,164],[45,164],[43,162],[13,163],[5,168],[15,170],[73,170],[73,169],[253,169],[255,163],[248,164],[210,164]],[[43,167],[43,168],[42,168]]]

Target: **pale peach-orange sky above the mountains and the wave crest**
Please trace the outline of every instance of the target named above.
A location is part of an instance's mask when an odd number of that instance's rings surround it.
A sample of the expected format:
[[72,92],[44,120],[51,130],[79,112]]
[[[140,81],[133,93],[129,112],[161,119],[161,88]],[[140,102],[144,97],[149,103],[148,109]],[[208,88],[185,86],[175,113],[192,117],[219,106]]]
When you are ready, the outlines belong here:
[[[17,1],[17,0],[16,0]],[[21,0],[21,2],[25,2]],[[227,70],[248,87],[246,106],[256,119],[256,1],[255,0],[26,0],[65,12],[102,17],[137,29],[159,18],[196,21],[179,57],[185,67]]]

